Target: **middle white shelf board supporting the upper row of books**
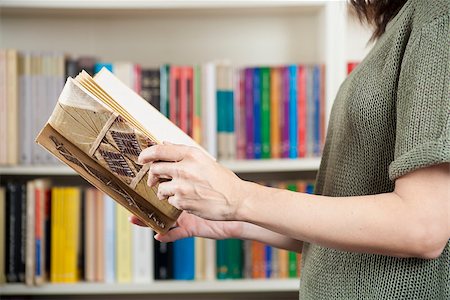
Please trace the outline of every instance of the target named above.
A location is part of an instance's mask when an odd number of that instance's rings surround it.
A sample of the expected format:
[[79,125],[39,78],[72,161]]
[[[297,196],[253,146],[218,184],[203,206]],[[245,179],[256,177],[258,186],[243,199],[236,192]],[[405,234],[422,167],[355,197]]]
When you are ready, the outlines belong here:
[[[316,171],[320,158],[229,160],[220,162],[236,173]],[[6,175],[76,175],[64,165],[54,166],[3,166],[0,176]]]

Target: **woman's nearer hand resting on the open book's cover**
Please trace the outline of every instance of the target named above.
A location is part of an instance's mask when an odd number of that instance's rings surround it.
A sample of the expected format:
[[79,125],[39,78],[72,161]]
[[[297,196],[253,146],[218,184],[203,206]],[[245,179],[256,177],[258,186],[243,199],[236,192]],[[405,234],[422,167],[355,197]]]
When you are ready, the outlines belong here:
[[141,152],[140,163],[152,163],[148,185],[158,186],[158,198],[203,219],[237,220],[243,181],[202,150],[165,143]]

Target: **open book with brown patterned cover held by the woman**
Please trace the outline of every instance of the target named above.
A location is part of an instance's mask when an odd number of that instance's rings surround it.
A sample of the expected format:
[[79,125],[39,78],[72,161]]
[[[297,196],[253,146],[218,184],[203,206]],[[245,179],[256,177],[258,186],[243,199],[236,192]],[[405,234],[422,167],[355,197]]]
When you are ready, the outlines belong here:
[[202,149],[157,109],[103,68],[94,78],[68,78],[36,142],[108,194],[156,232],[165,233],[181,211],[147,186],[141,151],[169,141]]

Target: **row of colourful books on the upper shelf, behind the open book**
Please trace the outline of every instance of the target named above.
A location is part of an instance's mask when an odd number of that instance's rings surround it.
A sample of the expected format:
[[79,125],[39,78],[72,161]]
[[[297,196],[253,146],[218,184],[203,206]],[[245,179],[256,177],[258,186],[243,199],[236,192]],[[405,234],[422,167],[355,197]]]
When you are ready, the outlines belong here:
[[232,67],[226,61],[142,68],[93,57],[0,49],[0,165],[56,160],[34,143],[67,76],[108,68],[162,114],[225,159],[319,156],[324,66]]

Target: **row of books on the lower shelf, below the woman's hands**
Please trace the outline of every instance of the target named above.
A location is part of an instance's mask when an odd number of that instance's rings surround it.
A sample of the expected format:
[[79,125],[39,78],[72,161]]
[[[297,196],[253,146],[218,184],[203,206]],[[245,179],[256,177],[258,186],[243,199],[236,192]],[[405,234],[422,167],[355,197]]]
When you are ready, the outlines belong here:
[[[312,192],[308,182],[271,186]],[[153,239],[129,213],[92,187],[48,179],[0,187],[0,283],[145,283],[297,277],[299,255],[259,242]]]

